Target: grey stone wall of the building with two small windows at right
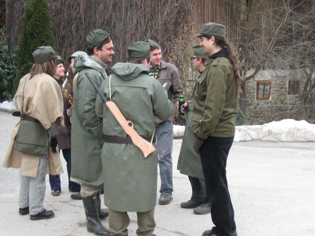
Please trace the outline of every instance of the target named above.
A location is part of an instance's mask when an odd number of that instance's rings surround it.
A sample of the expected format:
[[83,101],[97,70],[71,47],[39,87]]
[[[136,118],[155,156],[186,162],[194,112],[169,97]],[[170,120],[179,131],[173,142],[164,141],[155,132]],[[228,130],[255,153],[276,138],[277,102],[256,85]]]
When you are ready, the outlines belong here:
[[[250,71],[248,75],[253,73]],[[271,81],[270,98],[257,100],[256,84],[260,80]],[[289,80],[300,81],[299,93],[288,94]],[[305,85],[305,76],[302,71],[261,71],[256,76],[246,82],[246,99],[239,101],[245,103],[244,115],[250,124],[264,124],[282,119],[307,119],[309,118],[305,107],[301,105],[300,96]],[[239,114],[241,116],[241,114]],[[244,119],[239,120],[238,124],[248,124]]]

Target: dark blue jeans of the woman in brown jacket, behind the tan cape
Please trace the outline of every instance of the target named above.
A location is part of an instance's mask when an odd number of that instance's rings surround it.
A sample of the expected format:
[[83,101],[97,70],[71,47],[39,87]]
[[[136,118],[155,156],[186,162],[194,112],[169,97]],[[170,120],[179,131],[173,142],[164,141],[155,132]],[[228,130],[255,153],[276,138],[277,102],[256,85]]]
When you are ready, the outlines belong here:
[[[80,192],[81,185],[79,183],[70,181],[70,175],[71,175],[71,148],[63,149],[63,157],[64,157],[64,160],[67,163],[69,191]],[[60,176],[59,175],[56,175],[56,176],[49,175],[49,183],[50,183],[51,190],[59,190],[59,191],[61,191],[61,181],[60,181]]]

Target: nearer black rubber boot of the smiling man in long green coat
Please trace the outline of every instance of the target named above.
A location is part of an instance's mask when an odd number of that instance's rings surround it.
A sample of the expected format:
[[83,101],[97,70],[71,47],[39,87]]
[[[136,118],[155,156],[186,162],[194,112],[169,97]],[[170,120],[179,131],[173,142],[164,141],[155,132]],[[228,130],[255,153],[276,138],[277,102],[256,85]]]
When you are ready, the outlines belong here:
[[106,229],[98,218],[97,196],[82,198],[85,214],[87,216],[87,229],[99,236],[110,236],[110,230]]

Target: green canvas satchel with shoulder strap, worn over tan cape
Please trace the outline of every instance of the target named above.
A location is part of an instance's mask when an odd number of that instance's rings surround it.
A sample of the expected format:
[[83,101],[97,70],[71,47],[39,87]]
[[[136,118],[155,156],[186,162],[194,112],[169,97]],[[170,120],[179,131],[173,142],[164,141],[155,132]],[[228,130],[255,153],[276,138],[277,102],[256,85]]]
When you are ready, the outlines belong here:
[[[26,81],[27,80],[28,78]],[[25,84],[23,88],[20,126],[14,143],[14,148],[22,153],[44,156],[47,155],[49,134],[39,120],[26,115],[23,111]]]

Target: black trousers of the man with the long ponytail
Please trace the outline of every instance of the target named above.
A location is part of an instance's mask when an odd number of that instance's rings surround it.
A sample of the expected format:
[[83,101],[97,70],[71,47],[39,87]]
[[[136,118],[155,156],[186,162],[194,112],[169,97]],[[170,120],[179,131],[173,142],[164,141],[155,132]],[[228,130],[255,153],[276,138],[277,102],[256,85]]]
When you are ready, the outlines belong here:
[[236,229],[225,170],[233,139],[208,137],[199,149],[208,201],[212,203],[211,218],[215,225],[212,233],[218,236],[231,236]]

